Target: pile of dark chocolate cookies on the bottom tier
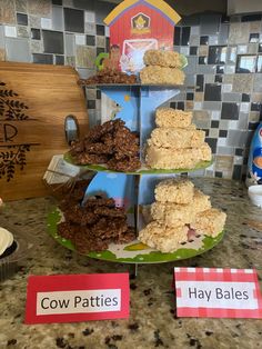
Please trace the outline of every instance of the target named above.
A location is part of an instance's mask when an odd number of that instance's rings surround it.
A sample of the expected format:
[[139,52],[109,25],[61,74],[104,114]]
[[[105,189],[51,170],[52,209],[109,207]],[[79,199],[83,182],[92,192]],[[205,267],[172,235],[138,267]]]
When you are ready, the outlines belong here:
[[123,208],[117,208],[112,198],[89,197],[80,206],[80,190],[70,200],[60,205],[64,222],[58,233],[69,239],[81,253],[107,250],[109,243],[127,243],[135,239],[134,228],[128,227]]

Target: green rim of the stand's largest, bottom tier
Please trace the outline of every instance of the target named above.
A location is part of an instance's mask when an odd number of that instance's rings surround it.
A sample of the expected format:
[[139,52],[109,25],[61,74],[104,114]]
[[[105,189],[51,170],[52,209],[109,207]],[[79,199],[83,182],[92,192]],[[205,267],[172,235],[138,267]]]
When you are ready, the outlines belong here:
[[172,262],[178,260],[184,260],[189,258],[193,258],[195,256],[202,255],[213,247],[215,247],[224,236],[224,230],[221,231],[215,238],[205,236],[203,239],[203,246],[195,250],[195,249],[185,249],[181,248],[173,253],[162,253],[159,251],[151,251],[148,255],[137,255],[134,258],[117,258],[111,251],[105,250],[101,252],[89,252],[89,253],[80,253],[75,250],[73,243],[60,237],[57,233],[57,226],[59,220],[61,219],[60,211],[57,207],[52,208],[52,211],[49,212],[47,217],[47,226],[48,226],[48,233],[56,240],[58,243],[63,246],[64,248],[74,251],[75,253],[87,256],[93,259],[99,259],[103,261],[111,261],[111,262],[120,262],[120,263],[162,263],[162,262]]

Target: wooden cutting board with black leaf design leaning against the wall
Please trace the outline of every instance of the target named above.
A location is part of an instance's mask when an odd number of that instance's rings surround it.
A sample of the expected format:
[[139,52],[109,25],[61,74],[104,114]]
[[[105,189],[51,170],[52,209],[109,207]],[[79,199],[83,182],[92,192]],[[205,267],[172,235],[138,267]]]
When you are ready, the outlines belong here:
[[42,178],[54,154],[68,151],[64,119],[73,114],[80,137],[88,114],[71,67],[0,62],[0,198],[48,193]]

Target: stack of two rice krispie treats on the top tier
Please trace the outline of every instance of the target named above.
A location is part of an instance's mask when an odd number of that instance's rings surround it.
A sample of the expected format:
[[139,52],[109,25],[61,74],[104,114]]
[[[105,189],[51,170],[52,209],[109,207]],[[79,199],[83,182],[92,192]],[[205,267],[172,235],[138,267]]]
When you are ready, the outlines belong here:
[[173,51],[148,50],[143,61],[145,67],[140,71],[141,83],[183,84],[183,58]]

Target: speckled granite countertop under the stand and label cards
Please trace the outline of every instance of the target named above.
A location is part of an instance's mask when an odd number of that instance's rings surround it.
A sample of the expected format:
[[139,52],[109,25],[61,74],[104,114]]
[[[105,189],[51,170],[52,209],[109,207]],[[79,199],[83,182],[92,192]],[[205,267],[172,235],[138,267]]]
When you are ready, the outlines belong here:
[[[0,348],[261,348],[255,319],[175,319],[172,271],[179,267],[256,268],[262,280],[262,211],[243,183],[195,178],[213,207],[226,211],[225,236],[212,250],[189,260],[132,267],[92,260],[64,249],[46,232],[52,198],[7,205],[1,213],[17,230],[36,235],[36,247],[19,271],[0,283]],[[130,319],[28,326],[23,323],[29,275],[131,272]]]

